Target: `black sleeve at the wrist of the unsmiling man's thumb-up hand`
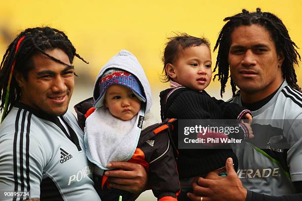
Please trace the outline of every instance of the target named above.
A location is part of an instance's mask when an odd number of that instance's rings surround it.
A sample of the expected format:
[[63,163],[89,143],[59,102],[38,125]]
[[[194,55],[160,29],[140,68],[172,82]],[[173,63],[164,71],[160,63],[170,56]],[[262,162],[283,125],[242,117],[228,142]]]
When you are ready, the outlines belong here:
[[302,193],[286,195],[281,197],[268,196],[261,193],[255,193],[253,191],[248,191],[245,201],[301,201]]

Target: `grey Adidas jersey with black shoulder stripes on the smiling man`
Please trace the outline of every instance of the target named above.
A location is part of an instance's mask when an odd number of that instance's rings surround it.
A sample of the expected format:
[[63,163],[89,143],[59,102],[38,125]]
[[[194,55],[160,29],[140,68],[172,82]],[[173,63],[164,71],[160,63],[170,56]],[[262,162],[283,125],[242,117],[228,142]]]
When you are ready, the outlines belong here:
[[[83,132],[73,114],[67,112],[63,118],[76,133],[80,151],[55,123],[24,108],[12,108],[0,125],[1,192],[13,191],[16,185],[18,191],[30,190],[31,198],[47,194],[53,196],[50,200],[100,201],[93,187],[93,169],[83,151]],[[40,191],[44,181],[55,184],[56,192]],[[56,193],[60,198],[54,198]]]

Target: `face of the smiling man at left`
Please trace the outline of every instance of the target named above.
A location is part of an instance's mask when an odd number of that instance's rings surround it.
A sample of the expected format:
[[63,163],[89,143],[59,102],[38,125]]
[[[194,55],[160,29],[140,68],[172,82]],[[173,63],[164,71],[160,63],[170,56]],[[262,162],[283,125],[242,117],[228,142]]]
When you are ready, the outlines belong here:
[[27,77],[19,71],[15,73],[21,88],[20,101],[50,115],[63,115],[74,90],[74,67],[61,49],[46,50],[45,53],[66,65],[55,62],[42,53],[33,55],[32,65],[35,68],[28,72]]

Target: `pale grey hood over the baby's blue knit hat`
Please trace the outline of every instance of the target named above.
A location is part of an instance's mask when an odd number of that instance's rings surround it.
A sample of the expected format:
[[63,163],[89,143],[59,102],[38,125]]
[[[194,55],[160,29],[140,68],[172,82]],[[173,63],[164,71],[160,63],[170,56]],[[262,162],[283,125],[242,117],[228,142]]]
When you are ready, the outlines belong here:
[[100,96],[100,92],[99,92],[100,79],[103,76],[103,74],[105,73],[105,71],[110,68],[118,68],[118,69],[128,71],[129,73],[131,73],[133,76],[135,76],[139,80],[141,87],[142,87],[142,91],[144,92],[146,100],[147,100],[145,112],[146,113],[150,112],[150,108],[152,105],[152,99],[151,99],[151,87],[150,87],[149,81],[147,79],[147,76],[145,74],[143,67],[141,66],[141,64],[139,63],[137,58],[127,50],[121,50],[120,52],[118,52],[115,56],[113,56],[109,60],[109,62],[107,64],[105,64],[102,67],[102,69],[100,70],[100,72],[96,78],[95,84],[94,84],[93,99],[95,101],[98,100],[98,98]]

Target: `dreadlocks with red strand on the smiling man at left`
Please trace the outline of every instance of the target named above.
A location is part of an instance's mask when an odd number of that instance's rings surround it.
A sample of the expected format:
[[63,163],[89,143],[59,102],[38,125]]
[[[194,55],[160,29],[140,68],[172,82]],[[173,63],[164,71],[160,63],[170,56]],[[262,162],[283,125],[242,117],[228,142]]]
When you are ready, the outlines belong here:
[[[19,40],[21,42],[19,42]],[[18,42],[20,44],[16,51]],[[39,52],[60,64],[69,66],[68,64],[65,64],[61,60],[58,60],[45,52],[46,50],[52,50],[55,48],[63,50],[68,55],[71,64],[73,63],[75,56],[88,64],[88,62],[86,62],[76,53],[76,48],[73,46],[64,32],[50,27],[26,29],[10,43],[0,65],[0,111],[4,112],[4,114],[2,114],[4,117],[13,107],[14,102],[20,99],[21,89],[18,86],[14,76],[11,77],[11,82],[9,83],[9,75],[13,63],[15,62],[14,72],[19,71],[26,80],[28,79],[28,72],[34,68],[32,64],[32,56]],[[9,96],[7,101],[8,106],[6,106],[6,108],[9,109],[3,111],[7,86]]]

